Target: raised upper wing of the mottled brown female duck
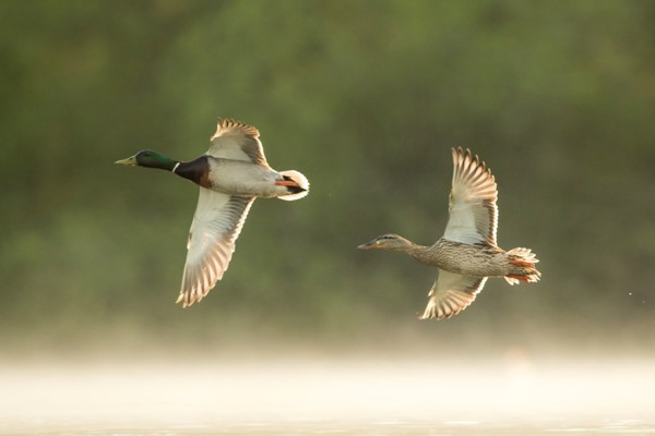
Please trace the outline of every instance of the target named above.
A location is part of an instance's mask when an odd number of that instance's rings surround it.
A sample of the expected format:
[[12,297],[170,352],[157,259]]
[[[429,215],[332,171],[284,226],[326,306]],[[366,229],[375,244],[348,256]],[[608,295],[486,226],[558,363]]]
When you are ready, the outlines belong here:
[[453,148],[450,218],[443,238],[465,244],[496,246],[498,187],[491,171],[471,150]]

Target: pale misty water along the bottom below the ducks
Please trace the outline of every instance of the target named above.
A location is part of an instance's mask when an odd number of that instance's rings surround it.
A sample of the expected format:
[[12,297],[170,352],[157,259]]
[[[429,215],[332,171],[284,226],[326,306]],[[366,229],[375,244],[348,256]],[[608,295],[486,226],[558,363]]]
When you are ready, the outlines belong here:
[[655,365],[11,366],[0,434],[655,435]]

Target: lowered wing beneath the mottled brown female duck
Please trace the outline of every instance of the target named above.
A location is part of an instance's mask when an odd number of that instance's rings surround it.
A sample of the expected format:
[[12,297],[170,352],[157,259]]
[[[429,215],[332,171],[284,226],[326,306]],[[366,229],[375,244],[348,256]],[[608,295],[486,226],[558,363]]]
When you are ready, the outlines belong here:
[[420,319],[443,319],[458,314],[473,303],[486,281],[486,277],[462,276],[439,269],[437,281],[428,293],[428,306]]

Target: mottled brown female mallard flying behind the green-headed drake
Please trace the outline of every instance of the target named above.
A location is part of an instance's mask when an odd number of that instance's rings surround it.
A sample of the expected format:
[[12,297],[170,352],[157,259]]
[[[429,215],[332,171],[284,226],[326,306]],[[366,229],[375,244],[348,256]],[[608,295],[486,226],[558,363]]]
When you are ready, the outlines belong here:
[[439,275],[420,316],[450,318],[466,308],[488,277],[504,277],[510,284],[535,282],[539,261],[528,249],[509,252],[496,245],[498,190],[493,175],[477,156],[462,148],[453,153],[453,185],[445,233],[432,246],[417,245],[397,234],[383,234],[359,245],[361,250],[395,250],[437,267]]

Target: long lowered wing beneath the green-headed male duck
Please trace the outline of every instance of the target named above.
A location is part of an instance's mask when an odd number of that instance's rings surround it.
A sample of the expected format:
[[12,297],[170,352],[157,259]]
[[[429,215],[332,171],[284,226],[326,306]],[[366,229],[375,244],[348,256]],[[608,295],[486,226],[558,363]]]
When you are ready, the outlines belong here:
[[253,201],[200,189],[177,303],[187,307],[202,300],[223,278]]

